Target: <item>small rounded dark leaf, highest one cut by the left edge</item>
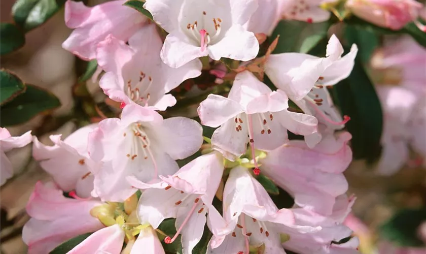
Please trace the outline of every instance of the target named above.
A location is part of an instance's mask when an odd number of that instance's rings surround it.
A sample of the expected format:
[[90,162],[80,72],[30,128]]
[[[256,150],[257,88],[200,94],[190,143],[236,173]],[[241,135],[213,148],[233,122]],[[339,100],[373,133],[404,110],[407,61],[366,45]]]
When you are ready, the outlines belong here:
[[0,55],[19,49],[25,44],[25,35],[14,24],[0,23]]

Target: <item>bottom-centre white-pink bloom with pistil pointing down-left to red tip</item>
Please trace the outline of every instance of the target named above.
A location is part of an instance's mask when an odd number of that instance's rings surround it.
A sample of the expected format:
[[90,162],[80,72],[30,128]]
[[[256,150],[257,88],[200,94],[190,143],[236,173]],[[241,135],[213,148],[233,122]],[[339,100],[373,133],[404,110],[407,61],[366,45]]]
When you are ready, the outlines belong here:
[[[206,221],[214,235],[225,234],[225,221],[211,205],[223,170],[223,157],[211,152],[197,157],[174,175],[161,177],[168,184],[165,188],[149,188],[140,196],[139,222],[149,223],[156,229],[165,218],[176,218],[176,234],[164,241],[171,243],[182,234],[184,254],[192,253],[203,235]],[[133,185],[138,187],[137,181],[133,181]]]

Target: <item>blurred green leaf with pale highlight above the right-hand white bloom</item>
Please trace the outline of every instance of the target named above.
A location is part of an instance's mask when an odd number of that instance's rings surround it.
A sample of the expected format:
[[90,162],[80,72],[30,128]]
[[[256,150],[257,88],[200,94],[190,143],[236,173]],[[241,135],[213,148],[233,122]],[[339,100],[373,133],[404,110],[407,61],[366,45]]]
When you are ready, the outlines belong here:
[[307,53],[327,36],[329,27],[328,21],[310,24],[295,20],[281,20],[271,36],[271,39],[275,39],[277,35],[280,36],[273,53]]

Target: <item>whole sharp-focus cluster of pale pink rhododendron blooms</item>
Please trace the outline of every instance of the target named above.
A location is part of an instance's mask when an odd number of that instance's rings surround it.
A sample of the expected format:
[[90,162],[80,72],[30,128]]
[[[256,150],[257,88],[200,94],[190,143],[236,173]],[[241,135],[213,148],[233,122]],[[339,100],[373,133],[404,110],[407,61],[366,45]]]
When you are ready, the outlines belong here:
[[[261,35],[282,16],[330,15],[315,1],[282,2],[147,0],[153,22],[121,0],[93,8],[68,0],[65,21],[74,31],[62,46],[97,60],[99,85],[122,111],[64,140],[51,136],[53,146],[33,137],[33,157],[53,182],[37,183],[27,204],[28,253],[92,233],[68,253],[160,254],[181,241],[188,254],[207,228],[206,253],[357,253],[358,239],[342,224],[354,202],[343,175],[352,160],[351,135],[341,131],[349,117],[328,88],[350,74],[358,48],[343,55],[333,35],[324,57],[268,49],[256,58]],[[201,75],[199,58],[238,63],[219,75],[233,73],[227,96],[209,94],[199,104],[201,123],[216,128],[211,139],[197,121],[162,114],[176,104],[169,92]],[[3,157],[31,139],[0,131]],[[2,160],[2,177],[10,167]],[[293,207],[278,208],[259,177],[288,192]],[[174,235],[159,229],[167,218],[175,218]]]

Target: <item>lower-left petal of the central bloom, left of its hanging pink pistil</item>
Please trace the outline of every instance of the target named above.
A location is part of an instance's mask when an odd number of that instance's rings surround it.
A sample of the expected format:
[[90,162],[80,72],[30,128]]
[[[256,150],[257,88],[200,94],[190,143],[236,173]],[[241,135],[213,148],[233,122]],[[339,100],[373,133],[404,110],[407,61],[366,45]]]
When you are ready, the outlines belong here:
[[228,160],[234,161],[245,153],[248,143],[247,128],[236,131],[234,119],[229,119],[211,136],[212,148],[221,152]]

